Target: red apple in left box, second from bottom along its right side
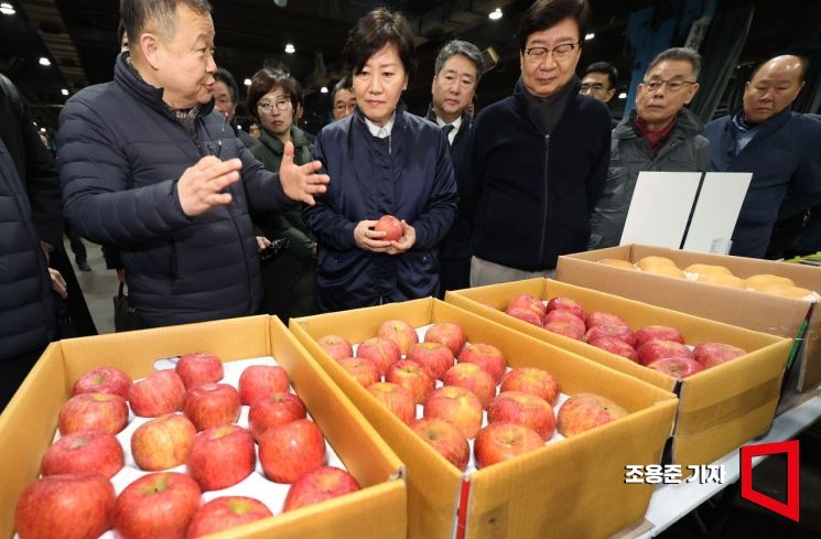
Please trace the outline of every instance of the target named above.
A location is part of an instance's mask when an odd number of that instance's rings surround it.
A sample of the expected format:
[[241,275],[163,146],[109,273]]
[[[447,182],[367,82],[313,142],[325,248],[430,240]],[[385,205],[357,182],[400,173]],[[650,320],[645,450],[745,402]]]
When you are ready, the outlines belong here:
[[307,419],[271,427],[259,441],[259,462],[269,479],[293,483],[327,463],[325,439]]

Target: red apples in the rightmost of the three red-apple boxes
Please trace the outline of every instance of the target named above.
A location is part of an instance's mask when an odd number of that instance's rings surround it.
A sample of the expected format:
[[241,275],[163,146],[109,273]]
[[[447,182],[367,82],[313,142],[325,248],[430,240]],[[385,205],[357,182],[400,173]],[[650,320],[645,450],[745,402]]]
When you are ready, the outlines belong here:
[[665,325],[648,325],[634,332],[620,316],[602,311],[587,313],[572,298],[551,298],[545,305],[536,297],[520,294],[505,312],[679,379],[746,354],[725,343],[688,346],[679,330]]

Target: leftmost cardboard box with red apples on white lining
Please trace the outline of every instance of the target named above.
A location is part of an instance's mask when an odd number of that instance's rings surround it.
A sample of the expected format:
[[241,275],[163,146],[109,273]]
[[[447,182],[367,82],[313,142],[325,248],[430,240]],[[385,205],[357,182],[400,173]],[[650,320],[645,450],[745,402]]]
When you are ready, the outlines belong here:
[[406,536],[401,462],[276,317],[52,344],[0,448],[4,537]]

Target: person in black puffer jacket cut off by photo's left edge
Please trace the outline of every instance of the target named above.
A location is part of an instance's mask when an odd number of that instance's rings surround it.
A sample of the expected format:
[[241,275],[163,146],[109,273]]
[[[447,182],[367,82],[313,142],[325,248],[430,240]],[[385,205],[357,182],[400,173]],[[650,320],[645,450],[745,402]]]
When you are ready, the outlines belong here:
[[41,241],[56,246],[62,236],[54,160],[17,88],[0,75],[0,411],[55,336],[54,292]]

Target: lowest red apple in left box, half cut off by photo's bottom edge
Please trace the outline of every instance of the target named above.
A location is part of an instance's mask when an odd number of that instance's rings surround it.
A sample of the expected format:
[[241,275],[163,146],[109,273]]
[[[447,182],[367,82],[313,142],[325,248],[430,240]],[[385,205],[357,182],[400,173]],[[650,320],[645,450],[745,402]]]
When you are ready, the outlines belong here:
[[271,510],[256,498],[220,496],[197,509],[188,526],[186,538],[209,536],[272,516]]

